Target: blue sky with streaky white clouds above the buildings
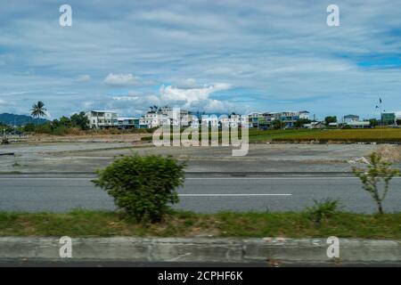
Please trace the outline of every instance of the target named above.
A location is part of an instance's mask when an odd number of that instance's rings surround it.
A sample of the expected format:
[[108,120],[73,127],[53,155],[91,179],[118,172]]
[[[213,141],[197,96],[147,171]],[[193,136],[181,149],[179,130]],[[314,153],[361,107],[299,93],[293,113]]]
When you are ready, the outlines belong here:
[[49,118],[151,105],[379,117],[379,98],[401,110],[400,12],[386,0],[0,0],[0,113],[40,100]]

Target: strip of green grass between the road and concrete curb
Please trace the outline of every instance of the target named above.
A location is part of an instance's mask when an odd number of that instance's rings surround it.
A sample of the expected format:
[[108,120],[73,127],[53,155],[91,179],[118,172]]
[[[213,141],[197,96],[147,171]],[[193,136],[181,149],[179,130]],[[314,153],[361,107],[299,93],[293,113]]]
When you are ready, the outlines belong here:
[[114,212],[0,213],[0,236],[328,237],[401,239],[401,213],[339,213],[316,225],[307,213],[175,212],[161,224],[137,224]]

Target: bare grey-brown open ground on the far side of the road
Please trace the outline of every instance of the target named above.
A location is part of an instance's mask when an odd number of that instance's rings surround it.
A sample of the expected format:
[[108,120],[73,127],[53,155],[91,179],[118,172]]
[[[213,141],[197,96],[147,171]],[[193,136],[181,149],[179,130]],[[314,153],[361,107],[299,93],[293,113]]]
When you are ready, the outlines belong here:
[[379,148],[374,144],[250,144],[247,156],[233,157],[227,147],[154,147],[135,141],[135,135],[96,142],[75,137],[74,142],[0,145],[0,154],[13,153],[0,155],[0,172],[90,173],[106,167],[116,156],[135,152],[171,155],[187,161],[189,172],[344,172]]

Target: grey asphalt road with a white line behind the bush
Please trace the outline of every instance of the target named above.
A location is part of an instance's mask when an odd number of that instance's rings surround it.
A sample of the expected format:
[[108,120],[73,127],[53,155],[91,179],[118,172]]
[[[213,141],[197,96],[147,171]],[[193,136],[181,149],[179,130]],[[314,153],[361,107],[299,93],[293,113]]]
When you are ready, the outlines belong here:
[[[88,176],[1,175],[0,211],[66,212],[76,208],[114,209],[105,191]],[[388,212],[401,209],[401,179],[395,178],[384,202]],[[355,177],[345,175],[227,176],[190,175],[179,190],[176,208],[219,211],[299,211],[314,199],[340,199],[344,210],[373,213],[375,204]]]

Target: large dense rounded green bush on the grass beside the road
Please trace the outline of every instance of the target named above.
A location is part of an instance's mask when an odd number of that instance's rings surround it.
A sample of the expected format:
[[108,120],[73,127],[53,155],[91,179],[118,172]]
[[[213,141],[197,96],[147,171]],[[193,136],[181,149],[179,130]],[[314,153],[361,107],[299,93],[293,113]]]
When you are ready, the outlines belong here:
[[160,222],[170,204],[178,202],[176,188],[184,184],[184,167],[171,157],[126,156],[98,170],[94,184],[137,222]]

